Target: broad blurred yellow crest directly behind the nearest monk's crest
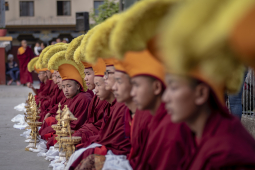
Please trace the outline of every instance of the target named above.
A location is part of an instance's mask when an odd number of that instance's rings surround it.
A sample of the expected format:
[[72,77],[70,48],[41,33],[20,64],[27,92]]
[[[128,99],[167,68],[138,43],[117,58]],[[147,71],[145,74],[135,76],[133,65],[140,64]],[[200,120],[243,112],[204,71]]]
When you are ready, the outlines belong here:
[[142,51],[155,35],[169,8],[180,0],[146,0],[130,7],[112,31],[110,48],[121,59],[127,51]]

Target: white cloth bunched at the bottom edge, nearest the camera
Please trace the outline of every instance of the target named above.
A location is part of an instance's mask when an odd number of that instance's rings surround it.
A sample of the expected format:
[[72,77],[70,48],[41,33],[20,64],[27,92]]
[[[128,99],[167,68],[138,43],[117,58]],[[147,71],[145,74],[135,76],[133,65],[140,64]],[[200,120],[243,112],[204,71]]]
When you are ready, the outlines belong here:
[[114,155],[108,151],[102,170],[133,170],[125,155]]

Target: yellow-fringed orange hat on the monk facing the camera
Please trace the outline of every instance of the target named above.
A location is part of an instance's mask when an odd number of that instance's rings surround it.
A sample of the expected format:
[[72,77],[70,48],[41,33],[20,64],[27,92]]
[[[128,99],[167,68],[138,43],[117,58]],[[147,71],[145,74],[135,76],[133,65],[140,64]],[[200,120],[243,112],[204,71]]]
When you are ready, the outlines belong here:
[[75,80],[87,91],[84,80],[84,66],[82,63],[75,63],[73,60],[65,59],[65,51],[55,53],[48,62],[49,70],[57,70],[63,80]]

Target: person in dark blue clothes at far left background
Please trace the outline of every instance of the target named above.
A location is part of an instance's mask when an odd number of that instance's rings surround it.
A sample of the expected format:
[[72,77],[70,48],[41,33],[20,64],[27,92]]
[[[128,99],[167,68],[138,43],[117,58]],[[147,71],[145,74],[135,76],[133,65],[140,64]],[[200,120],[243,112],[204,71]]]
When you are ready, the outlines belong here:
[[8,61],[6,63],[6,74],[10,75],[10,77],[12,78],[9,82],[8,82],[8,86],[12,84],[13,81],[16,81],[17,85],[20,85],[20,82],[18,81],[18,77],[19,77],[19,67],[18,64],[13,61],[14,57],[12,54],[8,55]]

